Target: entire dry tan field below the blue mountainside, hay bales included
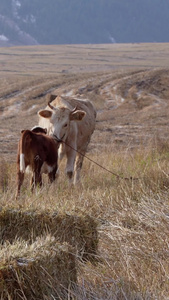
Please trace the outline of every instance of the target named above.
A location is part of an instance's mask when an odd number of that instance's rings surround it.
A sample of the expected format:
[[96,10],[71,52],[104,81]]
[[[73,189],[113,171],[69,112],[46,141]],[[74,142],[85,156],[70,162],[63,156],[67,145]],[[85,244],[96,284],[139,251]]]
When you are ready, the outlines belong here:
[[[0,299],[169,299],[168,57],[169,44],[0,49]],[[80,186],[63,162],[16,201],[20,131],[51,92],[96,107],[90,160]]]

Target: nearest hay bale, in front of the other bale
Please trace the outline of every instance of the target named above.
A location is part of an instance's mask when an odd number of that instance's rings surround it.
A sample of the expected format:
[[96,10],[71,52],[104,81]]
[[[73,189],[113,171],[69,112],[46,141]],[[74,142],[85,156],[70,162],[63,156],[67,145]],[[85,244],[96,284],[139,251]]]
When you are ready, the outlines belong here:
[[77,282],[75,253],[55,238],[0,247],[0,299],[68,299]]

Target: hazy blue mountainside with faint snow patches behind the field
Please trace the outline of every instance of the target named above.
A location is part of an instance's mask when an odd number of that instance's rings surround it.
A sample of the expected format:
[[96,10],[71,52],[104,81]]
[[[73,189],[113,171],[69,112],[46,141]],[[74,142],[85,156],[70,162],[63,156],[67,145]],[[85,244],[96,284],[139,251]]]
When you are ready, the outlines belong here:
[[0,45],[168,42],[168,0],[2,0]]

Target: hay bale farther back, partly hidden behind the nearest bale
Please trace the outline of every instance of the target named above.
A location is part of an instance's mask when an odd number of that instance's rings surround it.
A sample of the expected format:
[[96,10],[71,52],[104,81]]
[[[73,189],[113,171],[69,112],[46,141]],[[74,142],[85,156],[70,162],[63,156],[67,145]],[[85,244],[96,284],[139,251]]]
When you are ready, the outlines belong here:
[[68,242],[83,259],[94,258],[98,249],[97,223],[90,216],[4,209],[0,211],[0,239],[18,238],[32,243],[37,237],[51,234]]

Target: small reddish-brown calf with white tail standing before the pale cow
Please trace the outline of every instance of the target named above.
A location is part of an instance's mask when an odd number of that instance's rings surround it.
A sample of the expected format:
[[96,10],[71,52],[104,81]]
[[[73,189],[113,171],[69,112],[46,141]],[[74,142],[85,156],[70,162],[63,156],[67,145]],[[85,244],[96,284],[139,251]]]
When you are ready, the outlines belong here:
[[17,154],[17,193],[20,194],[26,169],[32,172],[31,190],[42,186],[42,173],[49,176],[50,182],[55,180],[58,168],[59,143],[46,135],[46,129],[35,127],[22,130]]

